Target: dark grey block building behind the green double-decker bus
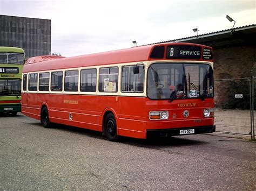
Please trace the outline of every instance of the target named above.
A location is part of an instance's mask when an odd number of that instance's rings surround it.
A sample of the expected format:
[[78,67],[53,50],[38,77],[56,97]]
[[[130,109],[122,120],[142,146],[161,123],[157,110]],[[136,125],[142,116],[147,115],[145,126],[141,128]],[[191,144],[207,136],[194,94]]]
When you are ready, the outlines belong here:
[[51,53],[51,20],[0,15],[0,46],[23,48],[26,58]]

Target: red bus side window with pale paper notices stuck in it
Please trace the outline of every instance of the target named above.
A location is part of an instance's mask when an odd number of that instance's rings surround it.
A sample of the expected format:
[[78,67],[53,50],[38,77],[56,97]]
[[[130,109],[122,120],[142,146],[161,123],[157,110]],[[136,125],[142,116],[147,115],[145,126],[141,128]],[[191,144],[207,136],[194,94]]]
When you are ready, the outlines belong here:
[[118,67],[99,69],[99,91],[117,92]]

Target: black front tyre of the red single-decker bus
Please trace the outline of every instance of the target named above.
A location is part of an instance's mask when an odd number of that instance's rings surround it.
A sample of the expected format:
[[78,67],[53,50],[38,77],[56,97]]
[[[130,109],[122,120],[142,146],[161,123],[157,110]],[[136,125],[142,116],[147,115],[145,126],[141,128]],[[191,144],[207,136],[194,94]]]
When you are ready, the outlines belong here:
[[106,138],[112,142],[116,142],[118,140],[117,123],[112,113],[106,115],[104,123],[104,134]]

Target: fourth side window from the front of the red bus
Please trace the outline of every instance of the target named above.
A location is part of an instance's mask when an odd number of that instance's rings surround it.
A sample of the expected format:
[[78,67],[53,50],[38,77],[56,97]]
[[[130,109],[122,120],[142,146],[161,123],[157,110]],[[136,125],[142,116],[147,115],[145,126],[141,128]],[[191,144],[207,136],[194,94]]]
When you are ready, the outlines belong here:
[[78,70],[65,72],[65,91],[78,91]]

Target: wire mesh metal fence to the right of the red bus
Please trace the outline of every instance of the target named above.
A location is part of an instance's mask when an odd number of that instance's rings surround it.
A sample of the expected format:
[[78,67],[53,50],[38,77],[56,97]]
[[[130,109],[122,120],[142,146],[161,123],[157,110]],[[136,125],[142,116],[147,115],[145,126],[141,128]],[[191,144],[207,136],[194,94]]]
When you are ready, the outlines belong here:
[[255,139],[256,77],[214,80],[216,131]]

